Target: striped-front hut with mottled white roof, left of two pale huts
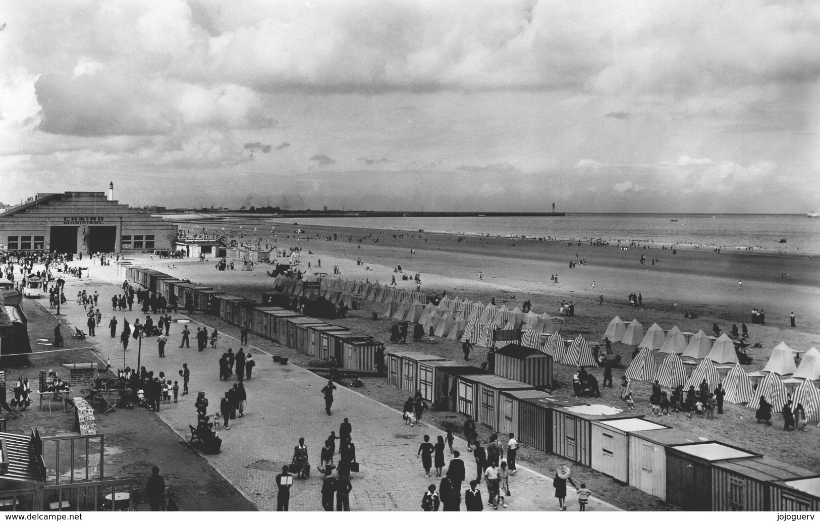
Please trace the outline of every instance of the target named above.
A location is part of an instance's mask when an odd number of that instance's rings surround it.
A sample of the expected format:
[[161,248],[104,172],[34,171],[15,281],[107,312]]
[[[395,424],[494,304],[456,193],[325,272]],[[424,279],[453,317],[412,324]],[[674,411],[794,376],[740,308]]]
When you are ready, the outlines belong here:
[[592,422],[604,419],[643,418],[643,414],[607,405],[573,405],[553,409],[553,453],[590,467]]

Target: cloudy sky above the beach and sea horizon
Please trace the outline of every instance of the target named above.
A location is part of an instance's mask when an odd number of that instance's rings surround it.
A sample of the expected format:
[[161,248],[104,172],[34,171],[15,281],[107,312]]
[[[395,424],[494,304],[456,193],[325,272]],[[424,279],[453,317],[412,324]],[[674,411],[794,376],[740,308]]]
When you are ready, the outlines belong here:
[[0,0],[0,201],[820,209],[820,3]]

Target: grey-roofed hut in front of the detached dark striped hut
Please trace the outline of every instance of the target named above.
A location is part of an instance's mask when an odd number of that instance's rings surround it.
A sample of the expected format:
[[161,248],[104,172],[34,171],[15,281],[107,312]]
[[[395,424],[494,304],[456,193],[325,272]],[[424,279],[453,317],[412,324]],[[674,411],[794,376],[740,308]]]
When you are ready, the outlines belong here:
[[494,374],[462,374],[458,377],[456,412],[495,430],[499,427],[500,393],[524,390],[533,391],[535,387]]

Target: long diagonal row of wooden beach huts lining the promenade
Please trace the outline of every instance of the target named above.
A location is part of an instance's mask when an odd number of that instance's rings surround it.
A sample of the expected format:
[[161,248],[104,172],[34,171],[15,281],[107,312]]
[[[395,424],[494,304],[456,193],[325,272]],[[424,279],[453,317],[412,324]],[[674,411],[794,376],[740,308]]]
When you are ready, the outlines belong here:
[[[173,293],[180,302],[190,295],[195,310],[235,326],[247,322],[258,336],[319,359],[335,357],[343,368],[372,371],[376,348],[383,346],[371,336],[264,301],[225,295],[149,268],[124,267],[127,281],[166,298]],[[298,282],[280,280],[276,289],[289,284],[287,289],[300,287],[302,295],[309,296],[303,281]],[[325,292],[330,284],[336,295]],[[362,299],[374,290],[363,287],[373,285],[353,287],[338,279],[324,288],[321,283],[307,286],[311,295],[336,299]],[[560,338],[555,331],[548,336]],[[549,344],[548,338],[544,345]],[[560,342],[562,349],[570,344]],[[558,347],[557,341],[552,347]],[[544,350],[504,345],[495,352],[494,373],[412,351],[388,353],[386,362],[391,386],[411,395],[419,391],[442,409],[474,418],[497,432],[515,432],[522,443],[594,468],[684,510],[820,510],[818,473],[654,423],[635,411],[544,391],[552,387],[554,362]]]

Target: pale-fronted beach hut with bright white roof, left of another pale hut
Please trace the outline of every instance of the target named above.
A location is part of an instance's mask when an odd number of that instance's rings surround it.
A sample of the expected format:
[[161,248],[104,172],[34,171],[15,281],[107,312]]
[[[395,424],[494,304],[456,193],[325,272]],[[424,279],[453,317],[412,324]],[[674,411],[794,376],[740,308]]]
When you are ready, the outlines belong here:
[[643,418],[594,420],[590,467],[620,482],[629,482],[629,433],[667,428]]

